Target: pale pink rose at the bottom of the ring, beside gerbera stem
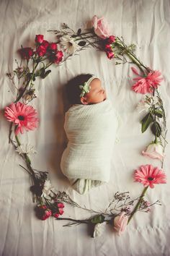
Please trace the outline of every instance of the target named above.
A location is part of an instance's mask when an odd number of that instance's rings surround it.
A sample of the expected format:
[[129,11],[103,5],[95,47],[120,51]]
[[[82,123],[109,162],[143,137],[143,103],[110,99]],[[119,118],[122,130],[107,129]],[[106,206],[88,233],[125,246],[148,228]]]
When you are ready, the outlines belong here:
[[126,213],[122,212],[120,216],[116,216],[113,221],[113,228],[115,229],[115,231],[117,231],[119,236],[125,231],[128,224],[128,216],[125,215]]

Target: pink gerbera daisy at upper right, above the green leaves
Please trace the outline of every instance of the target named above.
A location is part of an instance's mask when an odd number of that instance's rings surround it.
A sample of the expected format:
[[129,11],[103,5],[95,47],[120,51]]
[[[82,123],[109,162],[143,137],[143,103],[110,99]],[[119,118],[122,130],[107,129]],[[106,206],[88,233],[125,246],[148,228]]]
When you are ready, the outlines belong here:
[[132,90],[135,93],[153,93],[153,88],[157,89],[159,83],[163,80],[161,77],[161,72],[159,71],[151,71],[148,75],[141,77],[138,74],[138,70],[132,67],[133,73],[137,74],[139,77],[135,77],[133,80],[138,81],[132,87]]

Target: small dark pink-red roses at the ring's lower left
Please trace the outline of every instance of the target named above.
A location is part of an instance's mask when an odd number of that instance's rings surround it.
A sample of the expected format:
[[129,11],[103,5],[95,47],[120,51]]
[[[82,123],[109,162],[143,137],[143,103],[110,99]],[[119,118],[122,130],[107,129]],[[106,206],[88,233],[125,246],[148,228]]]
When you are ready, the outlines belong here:
[[50,216],[58,218],[59,216],[63,215],[64,205],[63,202],[54,202],[53,205],[37,205],[35,208],[37,218],[40,220],[45,221]]

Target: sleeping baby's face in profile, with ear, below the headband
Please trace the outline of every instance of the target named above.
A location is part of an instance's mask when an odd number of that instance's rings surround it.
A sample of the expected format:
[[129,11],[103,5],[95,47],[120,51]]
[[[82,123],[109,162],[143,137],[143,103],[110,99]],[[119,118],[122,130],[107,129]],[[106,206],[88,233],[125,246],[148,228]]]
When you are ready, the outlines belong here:
[[102,82],[95,78],[90,83],[90,91],[84,95],[87,104],[100,103],[106,99],[105,90],[102,88]]

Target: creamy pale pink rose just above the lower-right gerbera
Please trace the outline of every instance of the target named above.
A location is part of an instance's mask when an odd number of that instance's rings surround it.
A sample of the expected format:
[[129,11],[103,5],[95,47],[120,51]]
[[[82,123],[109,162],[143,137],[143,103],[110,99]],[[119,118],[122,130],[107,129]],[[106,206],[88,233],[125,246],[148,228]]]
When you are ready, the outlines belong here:
[[164,148],[161,143],[151,143],[148,145],[146,150],[142,151],[143,155],[148,156],[149,158],[163,160],[164,158]]

